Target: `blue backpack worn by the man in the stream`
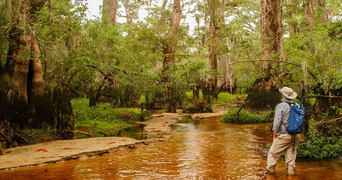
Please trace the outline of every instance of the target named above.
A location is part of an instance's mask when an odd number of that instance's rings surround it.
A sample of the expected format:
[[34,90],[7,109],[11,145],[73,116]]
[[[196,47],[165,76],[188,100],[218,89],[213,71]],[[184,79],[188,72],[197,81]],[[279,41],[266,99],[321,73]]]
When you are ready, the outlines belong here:
[[290,106],[290,119],[289,126],[286,130],[289,134],[300,134],[303,132],[303,120],[305,115],[305,108],[302,106],[303,100],[300,105],[292,105],[287,102]]

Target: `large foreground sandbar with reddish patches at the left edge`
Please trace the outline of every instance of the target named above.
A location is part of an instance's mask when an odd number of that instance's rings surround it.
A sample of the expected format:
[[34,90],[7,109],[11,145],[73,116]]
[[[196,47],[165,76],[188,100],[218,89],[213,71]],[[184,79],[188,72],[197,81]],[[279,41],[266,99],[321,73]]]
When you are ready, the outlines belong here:
[[139,148],[166,139],[167,138],[152,138],[135,140],[124,137],[102,137],[58,140],[10,148],[6,149],[4,155],[0,156],[0,170],[114,153],[132,148]]

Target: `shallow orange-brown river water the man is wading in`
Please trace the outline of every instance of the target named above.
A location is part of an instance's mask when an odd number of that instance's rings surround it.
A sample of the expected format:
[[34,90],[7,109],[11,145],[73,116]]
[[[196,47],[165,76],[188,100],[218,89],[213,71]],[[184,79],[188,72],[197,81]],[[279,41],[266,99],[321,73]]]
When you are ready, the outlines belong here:
[[269,124],[231,124],[220,117],[186,119],[170,140],[128,151],[0,171],[3,179],[61,180],[341,180],[342,159],[297,159],[294,177],[284,158],[275,175],[265,175]]

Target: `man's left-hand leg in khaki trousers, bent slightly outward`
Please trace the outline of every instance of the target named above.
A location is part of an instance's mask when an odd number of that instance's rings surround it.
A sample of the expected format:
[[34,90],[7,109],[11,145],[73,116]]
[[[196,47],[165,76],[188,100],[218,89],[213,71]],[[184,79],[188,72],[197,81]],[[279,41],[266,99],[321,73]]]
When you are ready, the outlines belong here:
[[267,154],[266,173],[273,173],[275,171],[275,166],[281,156],[281,153],[290,145],[291,135],[280,134],[273,140],[273,144]]

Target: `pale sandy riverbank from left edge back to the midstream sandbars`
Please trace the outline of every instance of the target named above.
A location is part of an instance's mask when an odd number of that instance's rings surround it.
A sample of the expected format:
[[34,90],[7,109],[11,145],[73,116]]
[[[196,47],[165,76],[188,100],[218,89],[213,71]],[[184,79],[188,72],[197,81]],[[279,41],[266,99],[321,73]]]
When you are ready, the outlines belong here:
[[[224,110],[215,109],[215,113],[153,114],[152,119],[137,122],[146,125],[144,131],[170,132],[171,125],[182,120],[182,116],[191,116],[194,119],[223,115]],[[0,170],[55,163],[78,158],[91,157],[106,153],[125,151],[132,148],[146,146],[154,142],[165,141],[168,137],[135,140],[125,137],[102,137],[74,140],[58,140],[38,143],[29,146],[6,149],[0,156]],[[35,152],[37,151],[38,152]],[[46,151],[45,151],[46,150]]]

